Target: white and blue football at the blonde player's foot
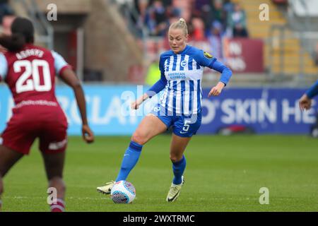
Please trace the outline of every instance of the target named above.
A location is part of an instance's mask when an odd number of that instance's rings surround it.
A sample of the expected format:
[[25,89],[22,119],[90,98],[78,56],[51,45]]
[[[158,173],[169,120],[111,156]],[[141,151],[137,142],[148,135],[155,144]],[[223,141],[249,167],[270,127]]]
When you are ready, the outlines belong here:
[[131,203],[136,198],[136,189],[130,182],[116,182],[110,192],[110,198],[114,203]]

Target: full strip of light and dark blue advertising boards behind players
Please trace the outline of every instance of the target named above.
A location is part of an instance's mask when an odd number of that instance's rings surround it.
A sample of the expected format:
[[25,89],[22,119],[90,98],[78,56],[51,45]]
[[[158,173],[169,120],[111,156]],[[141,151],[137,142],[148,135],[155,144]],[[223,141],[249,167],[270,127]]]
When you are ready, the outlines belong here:
[[[141,119],[151,111],[159,97],[152,98],[135,111],[129,105],[148,87],[136,85],[84,85],[90,126],[96,135],[131,135]],[[316,121],[317,98],[312,109],[301,112],[298,99],[305,92],[296,88],[226,88],[219,97],[208,98],[203,90],[203,118],[198,133],[240,125],[257,133],[309,133]],[[81,117],[71,88],[57,85],[57,98],[69,121],[69,135],[80,135]],[[11,94],[0,85],[0,132],[11,117]]]

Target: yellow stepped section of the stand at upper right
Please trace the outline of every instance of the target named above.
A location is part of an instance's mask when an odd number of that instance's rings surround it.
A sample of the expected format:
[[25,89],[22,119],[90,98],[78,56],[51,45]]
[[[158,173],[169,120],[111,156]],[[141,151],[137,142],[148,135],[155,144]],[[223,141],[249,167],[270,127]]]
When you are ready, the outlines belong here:
[[[295,75],[299,73],[312,75],[317,73],[318,69],[314,65],[310,53],[302,48],[300,38],[290,27],[287,16],[290,8],[281,8],[270,0],[235,1],[240,2],[247,11],[247,18],[249,18],[247,27],[251,37],[267,40],[264,52],[266,54],[264,57],[265,65],[273,75]],[[259,16],[259,11],[255,10],[256,6],[264,3],[268,4],[270,8],[270,20],[267,23],[255,19]],[[278,29],[274,30],[273,28],[277,25]]]

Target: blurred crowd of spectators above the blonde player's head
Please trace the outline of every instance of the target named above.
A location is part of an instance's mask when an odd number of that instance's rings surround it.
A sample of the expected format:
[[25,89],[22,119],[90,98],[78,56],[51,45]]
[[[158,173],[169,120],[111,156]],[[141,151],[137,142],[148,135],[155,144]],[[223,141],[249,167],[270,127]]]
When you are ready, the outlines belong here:
[[146,27],[150,36],[165,36],[169,25],[182,17],[194,40],[223,35],[248,37],[245,11],[230,0],[134,0],[132,6],[138,13],[136,27]]

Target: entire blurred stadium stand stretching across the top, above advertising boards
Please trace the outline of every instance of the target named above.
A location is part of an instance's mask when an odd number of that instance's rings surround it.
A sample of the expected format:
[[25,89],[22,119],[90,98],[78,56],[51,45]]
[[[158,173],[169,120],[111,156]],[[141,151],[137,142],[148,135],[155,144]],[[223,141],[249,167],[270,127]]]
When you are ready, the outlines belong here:
[[[49,11],[50,3],[59,5],[62,19],[45,23],[43,12]],[[228,40],[238,37],[263,42],[260,69],[243,71],[233,78],[234,83],[236,79],[242,84],[298,83],[300,78],[312,82],[318,71],[317,23],[312,23],[318,20],[315,1],[12,0],[10,4],[18,15],[35,21],[37,42],[59,48],[83,81],[146,81],[148,68],[169,48],[167,28],[180,17],[189,25],[190,44],[206,49],[225,64],[242,67],[242,62],[228,59],[226,49],[234,47]],[[269,6],[269,21],[259,20],[261,4]],[[62,41],[65,39],[76,40],[72,42],[76,44]],[[88,52],[95,54],[88,57]],[[211,83],[216,80],[213,73],[205,78]]]

